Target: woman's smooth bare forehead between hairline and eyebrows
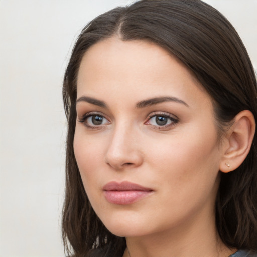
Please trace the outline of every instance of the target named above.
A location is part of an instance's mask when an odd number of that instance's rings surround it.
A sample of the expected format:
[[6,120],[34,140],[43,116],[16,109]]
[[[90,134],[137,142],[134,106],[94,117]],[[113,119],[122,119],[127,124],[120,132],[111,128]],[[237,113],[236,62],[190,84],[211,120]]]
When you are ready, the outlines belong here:
[[[210,100],[192,73],[162,47],[147,41],[109,38],[91,46],[77,80],[82,95],[135,99],[171,94],[190,101]],[[107,99],[107,100],[108,100]]]

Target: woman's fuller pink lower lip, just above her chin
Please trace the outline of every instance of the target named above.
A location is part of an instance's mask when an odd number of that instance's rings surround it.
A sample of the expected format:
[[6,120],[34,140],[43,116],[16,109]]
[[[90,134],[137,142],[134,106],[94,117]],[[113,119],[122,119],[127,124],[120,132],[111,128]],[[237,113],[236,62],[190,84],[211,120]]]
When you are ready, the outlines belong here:
[[104,196],[106,200],[114,204],[132,204],[138,200],[149,196],[152,191],[139,191],[139,190],[129,190],[129,191],[104,191]]

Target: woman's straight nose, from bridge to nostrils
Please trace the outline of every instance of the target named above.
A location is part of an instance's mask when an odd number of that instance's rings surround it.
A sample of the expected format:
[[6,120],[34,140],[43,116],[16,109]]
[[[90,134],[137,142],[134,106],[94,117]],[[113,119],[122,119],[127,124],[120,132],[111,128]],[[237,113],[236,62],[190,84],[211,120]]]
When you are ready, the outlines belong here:
[[106,151],[105,162],[115,170],[138,167],[143,163],[142,145],[130,125],[115,127]]

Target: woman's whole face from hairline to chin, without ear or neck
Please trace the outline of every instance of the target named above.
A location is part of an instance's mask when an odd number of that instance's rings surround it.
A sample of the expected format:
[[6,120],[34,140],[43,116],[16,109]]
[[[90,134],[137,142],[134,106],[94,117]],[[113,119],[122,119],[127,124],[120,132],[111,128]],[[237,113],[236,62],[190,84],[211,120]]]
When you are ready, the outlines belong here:
[[110,38],[86,52],[74,151],[92,207],[116,235],[214,220],[222,151],[212,101],[155,44]]

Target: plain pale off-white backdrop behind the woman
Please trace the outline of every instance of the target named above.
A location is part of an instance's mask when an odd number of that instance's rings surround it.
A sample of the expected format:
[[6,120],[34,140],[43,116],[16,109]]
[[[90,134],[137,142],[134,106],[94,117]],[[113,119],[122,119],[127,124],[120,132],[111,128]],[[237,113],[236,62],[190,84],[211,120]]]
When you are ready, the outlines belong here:
[[[0,257],[64,256],[61,86],[76,36],[122,0],[0,0]],[[257,0],[208,0],[257,66]]]

